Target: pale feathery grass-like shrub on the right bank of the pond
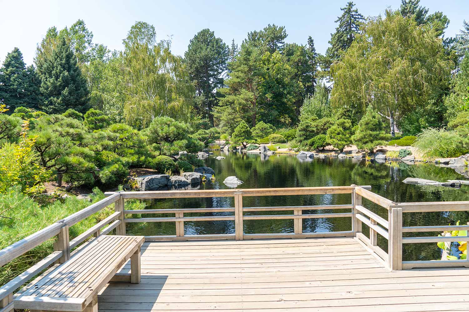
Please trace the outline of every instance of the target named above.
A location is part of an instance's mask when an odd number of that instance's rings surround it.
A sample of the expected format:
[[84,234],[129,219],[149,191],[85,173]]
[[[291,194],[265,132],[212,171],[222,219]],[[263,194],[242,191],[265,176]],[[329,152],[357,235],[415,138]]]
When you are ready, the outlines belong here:
[[430,158],[459,157],[469,152],[467,141],[456,131],[444,128],[425,129],[417,135],[414,146]]

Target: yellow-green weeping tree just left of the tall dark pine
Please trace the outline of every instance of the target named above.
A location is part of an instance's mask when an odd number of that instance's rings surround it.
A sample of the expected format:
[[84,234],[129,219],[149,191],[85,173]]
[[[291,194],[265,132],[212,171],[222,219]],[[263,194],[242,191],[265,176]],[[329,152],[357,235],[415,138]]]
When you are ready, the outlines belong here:
[[134,42],[122,53],[124,118],[145,128],[159,116],[189,122],[195,92],[182,58],[170,51],[170,42]]

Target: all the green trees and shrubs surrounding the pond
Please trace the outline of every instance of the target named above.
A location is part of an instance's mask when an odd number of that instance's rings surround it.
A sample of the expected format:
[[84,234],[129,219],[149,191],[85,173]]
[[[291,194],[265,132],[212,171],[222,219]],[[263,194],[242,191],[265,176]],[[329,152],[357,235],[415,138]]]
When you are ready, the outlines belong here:
[[[97,201],[139,174],[180,177],[210,148],[350,157],[353,145],[367,161],[467,166],[469,24],[446,34],[442,12],[401,2],[370,18],[346,3],[324,54],[314,34],[291,43],[268,24],[239,44],[202,29],[179,56],[142,21],[110,51],[81,19],[31,43],[33,65],[13,49],[0,66],[0,248],[88,204],[69,194]],[[2,268],[0,284],[52,244]]]

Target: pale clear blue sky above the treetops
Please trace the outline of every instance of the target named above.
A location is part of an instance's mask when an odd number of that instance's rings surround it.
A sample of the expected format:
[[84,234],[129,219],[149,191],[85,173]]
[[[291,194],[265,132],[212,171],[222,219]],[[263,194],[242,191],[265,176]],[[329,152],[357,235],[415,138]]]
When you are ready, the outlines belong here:
[[[51,26],[62,29],[83,19],[94,34],[94,43],[111,50],[122,49],[130,26],[144,21],[155,26],[158,39],[172,36],[172,50],[183,55],[189,40],[201,29],[215,31],[227,44],[234,39],[240,44],[251,30],[269,23],[285,26],[287,42],[305,44],[312,36],[317,51],[324,53],[340,7],[348,0],[237,0],[237,1],[13,1],[0,0],[0,61],[7,52],[18,47],[24,61],[32,64],[36,44]],[[401,0],[356,0],[356,7],[365,17],[382,14],[387,7],[397,9]],[[469,21],[468,0],[422,0],[430,13],[442,11],[450,19],[446,36],[454,36]]]

